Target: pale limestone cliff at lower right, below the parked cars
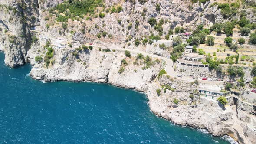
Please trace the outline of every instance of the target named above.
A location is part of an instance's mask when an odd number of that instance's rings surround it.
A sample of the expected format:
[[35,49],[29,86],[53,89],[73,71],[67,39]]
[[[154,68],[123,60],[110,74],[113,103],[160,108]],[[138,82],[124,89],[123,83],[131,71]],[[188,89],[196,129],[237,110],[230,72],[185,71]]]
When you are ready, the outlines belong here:
[[[164,83],[163,83],[164,82]],[[156,85],[168,84],[176,88],[174,92],[166,90],[158,96]],[[169,119],[176,124],[188,125],[207,129],[215,136],[229,135],[241,144],[256,143],[256,132],[252,130],[256,124],[255,116],[248,115],[252,105],[239,101],[235,97],[229,98],[229,106],[223,105],[208,98],[193,94],[196,85],[182,83],[163,76],[161,80],[149,85],[148,99],[151,110],[158,116]],[[161,89],[161,88],[160,88]],[[179,103],[174,104],[174,99]]]

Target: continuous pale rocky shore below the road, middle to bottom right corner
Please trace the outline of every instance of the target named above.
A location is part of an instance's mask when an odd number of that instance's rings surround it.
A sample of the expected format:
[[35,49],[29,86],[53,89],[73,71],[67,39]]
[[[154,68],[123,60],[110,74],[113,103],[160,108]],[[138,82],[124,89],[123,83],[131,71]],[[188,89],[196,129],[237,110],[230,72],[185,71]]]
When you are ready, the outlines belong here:
[[[33,51],[33,48],[31,50]],[[136,61],[135,54],[127,58],[124,52],[106,53],[95,48],[91,51],[81,51],[78,57],[75,57],[72,56],[72,52],[70,49],[56,49],[55,64],[50,65],[49,68],[46,68],[43,63],[30,59],[33,65],[30,76],[45,82],[64,80],[108,83],[145,92],[151,111],[175,124],[206,129],[213,136],[228,135],[241,144],[256,142],[255,131],[247,125],[254,120],[240,108],[250,106],[244,106],[239,102],[235,104],[230,97],[229,105],[224,108],[216,100],[203,98],[194,93],[198,85],[172,79],[169,75],[158,77],[159,71],[163,68],[162,61],[156,63],[156,59],[152,59],[152,62],[155,62],[154,66],[143,69],[144,64],[133,64]],[[29,56],[31,55],[30,53]],[[86,65],[77,62],[77,59],[81,59]],[[125,59],[128,64],[122,65],[122,59]],[[121,67],[125,70],[119,73],[118,70]],[[169,85],[171,88],[165,89],[163,85]],[[161,89],[159,96],[157,89]],[[190,98],[190,94],[194,97]],[[178,105],[174,104],[174,99],[179,101]]]

